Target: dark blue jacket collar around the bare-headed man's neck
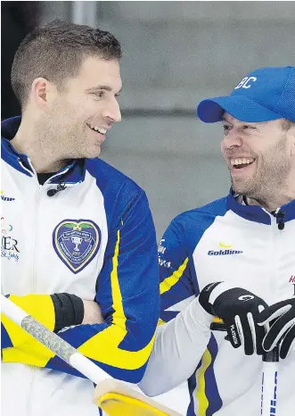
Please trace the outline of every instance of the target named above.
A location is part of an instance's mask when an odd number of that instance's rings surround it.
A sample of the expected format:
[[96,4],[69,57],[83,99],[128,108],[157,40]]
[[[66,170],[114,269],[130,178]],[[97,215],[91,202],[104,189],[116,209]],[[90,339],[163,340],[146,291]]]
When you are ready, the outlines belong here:
[[[27,154],[18,153],[10,143],[12,137],[14,137],[20,127],[21,117],[12,117],[1,122],[1,157],[10,164],[14,169],[24,173],[29,177],[34,177],[35,172],[32,164],[29,161]],[[76,184],[82,182],[85,179],[86,173],[86,160],[75,160],[66,167],[58,171],[56,175],[50,180],[50,183],[60,183],[61,180],[64,184]]]

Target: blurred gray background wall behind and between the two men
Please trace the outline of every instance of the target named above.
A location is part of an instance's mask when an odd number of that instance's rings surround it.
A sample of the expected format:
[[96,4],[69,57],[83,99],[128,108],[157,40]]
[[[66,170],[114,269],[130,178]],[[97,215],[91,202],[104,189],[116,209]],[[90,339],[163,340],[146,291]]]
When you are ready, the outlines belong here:
[[144,188],[158,240],[179,212],[227,194],[221,126],[198,121],[196,104],[256,68],[295,64],[295,2],[36,3],[41,23],[59,18],[119,38],[123,119],[102,159]]

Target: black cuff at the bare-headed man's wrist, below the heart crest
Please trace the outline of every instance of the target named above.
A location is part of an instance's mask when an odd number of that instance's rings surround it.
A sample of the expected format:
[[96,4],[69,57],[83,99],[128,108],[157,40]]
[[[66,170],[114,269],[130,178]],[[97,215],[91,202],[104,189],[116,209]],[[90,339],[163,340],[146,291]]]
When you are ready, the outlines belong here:
[[84,304],[80,297],[68,293],[51,295],[55,311],[55,327],[53,332],[71,325],[79,325],[84,318]]

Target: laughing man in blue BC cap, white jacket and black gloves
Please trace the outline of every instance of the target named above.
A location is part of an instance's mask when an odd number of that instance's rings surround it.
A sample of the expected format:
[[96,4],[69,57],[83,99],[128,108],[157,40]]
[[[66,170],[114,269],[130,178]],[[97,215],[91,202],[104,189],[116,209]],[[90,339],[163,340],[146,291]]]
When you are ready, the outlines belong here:
[[[204,100],[197,112],[201,121],[223,124],[232,188],[225,198],[178,215],[161,240],[163,325],[140,386],[159,395],[188,379],[188,416],[254,416],[260,414],[261,355],[279,342],[276,412],[290,415],[295,68],[253,71],[230,96]],[[224,320],[228,341],[210,330],[214,316]]]

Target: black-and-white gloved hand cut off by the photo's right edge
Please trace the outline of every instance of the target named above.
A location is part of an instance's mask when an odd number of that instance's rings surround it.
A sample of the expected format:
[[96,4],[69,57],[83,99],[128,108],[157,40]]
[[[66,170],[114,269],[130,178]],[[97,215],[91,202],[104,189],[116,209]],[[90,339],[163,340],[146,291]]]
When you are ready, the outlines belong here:
[[[272,320],[275,322],[272,323]],[[258,325],[266,324],[270,324],[270,329],[263,340],[263,348],[270,351],[283,339],[280,345],[280,358],[286,358],[295,340],[295,297],[272,304],[261,312]]]

